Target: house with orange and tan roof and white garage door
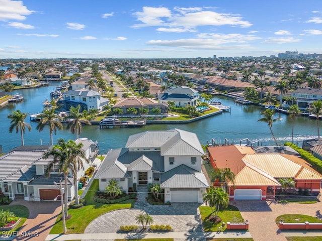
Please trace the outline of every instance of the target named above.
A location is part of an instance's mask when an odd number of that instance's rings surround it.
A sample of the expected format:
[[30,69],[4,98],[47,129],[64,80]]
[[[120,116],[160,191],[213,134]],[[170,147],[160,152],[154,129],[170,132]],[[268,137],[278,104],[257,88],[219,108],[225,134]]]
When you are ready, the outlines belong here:
[[[293,178],[295,189],[320,192],[322,175],[303,159],[288,154],[257,154],[251,147],[209,147],[213,168],[230,168],[235,174],[234,186],[228,183],[230,200],[266,200],[275,198],[281,188],[279,178]],[[214,182],[218,186],[218,182]]]

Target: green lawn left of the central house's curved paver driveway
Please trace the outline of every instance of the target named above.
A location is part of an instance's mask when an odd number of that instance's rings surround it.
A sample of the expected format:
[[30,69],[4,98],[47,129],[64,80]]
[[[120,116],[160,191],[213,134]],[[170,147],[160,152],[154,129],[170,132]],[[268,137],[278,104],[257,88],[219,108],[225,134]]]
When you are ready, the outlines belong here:
[[[99,189],[99,181],[94,180],[87,192],[86,206],[78,209],[68,209],[68,214],[72,217],[66,220],[67,233],[84,233],[85,228],[98,216],[117,209],[130,208],[134,206],[135,200],[130,199],[117,204],[103,204],[94,201],[95,192]],[[57,218],[50,233],[62,233],[63,226],[60,216]]]

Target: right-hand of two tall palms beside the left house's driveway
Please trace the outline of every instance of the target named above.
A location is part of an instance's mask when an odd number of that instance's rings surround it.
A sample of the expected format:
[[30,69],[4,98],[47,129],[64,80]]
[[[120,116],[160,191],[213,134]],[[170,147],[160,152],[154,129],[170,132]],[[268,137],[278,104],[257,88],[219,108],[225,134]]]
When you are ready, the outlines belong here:
[[84,167],[84,161],[86,163],[89,163],[89,160],[85,156],[83,143],[76,144],[76,142],[69,140],[67,142],[67,145],[70,152],[71,172],[72,172],[74,192],[75,192],[75,204],[79,204],[77,172]]

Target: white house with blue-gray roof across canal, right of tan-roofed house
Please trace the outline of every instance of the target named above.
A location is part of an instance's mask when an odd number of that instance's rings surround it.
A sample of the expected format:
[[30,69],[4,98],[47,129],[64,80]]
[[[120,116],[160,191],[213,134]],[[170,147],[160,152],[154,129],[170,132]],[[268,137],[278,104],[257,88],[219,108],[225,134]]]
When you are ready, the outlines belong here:
[[168,103],[169,101],[175,102],[176,106],[188,107],[197,104],[198,91],[187,87],[179,86],[173,89],[167,89],[164,93],[158,95],[159,103]]

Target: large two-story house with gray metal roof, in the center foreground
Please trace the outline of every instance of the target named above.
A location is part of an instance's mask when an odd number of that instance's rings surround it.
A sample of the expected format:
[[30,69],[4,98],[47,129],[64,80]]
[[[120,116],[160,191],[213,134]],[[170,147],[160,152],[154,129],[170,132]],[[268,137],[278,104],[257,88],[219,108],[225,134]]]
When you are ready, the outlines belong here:
[[196,134],[174,129],[131,135],[124,148],[110,150],[95,179],[104,191],[116,179],[128,192],[134,185],[158,183],[165,202],[203,202],[209,187],[201,171],[203,149]]

